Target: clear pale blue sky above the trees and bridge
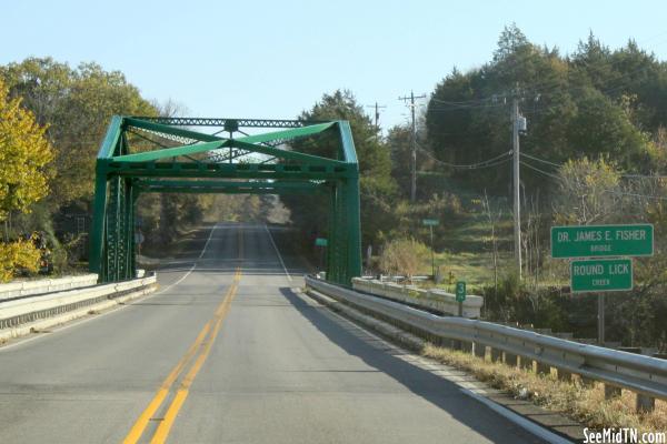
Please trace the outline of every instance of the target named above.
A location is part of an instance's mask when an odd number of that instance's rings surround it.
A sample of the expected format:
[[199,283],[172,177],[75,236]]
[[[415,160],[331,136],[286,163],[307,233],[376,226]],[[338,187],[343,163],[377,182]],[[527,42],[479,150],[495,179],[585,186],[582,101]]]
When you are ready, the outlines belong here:
[[[573,52],[589,30],[667,59],[666,1],[0,1],[0,63],[51,56],[120,70],[191,115],[293,118],[322,93],[387,105],[489,60],[504,26]],[[370,109],[368,110],[370,113]]]

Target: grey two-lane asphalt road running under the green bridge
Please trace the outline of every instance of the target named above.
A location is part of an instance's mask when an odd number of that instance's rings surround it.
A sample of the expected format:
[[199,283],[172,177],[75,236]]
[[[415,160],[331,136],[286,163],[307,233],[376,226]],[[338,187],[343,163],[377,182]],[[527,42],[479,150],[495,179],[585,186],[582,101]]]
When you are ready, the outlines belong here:
[[265,225],[188,254],[156,295],[0,349],[0,443],[539,442],[292,291]]

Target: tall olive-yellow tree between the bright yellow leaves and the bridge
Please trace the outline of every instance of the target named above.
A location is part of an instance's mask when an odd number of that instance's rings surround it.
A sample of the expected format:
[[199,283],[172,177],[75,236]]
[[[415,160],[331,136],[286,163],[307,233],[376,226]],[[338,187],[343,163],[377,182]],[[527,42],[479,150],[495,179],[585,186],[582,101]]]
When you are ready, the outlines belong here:
[[0,67],[12,98],[41,124],[54,149],[54,175],[49,201],[54,209],[92,196],[94,159],[113,114],[155,115],[156,109],[120,71],[96,63],[71,69],[51,58],[29,58]]

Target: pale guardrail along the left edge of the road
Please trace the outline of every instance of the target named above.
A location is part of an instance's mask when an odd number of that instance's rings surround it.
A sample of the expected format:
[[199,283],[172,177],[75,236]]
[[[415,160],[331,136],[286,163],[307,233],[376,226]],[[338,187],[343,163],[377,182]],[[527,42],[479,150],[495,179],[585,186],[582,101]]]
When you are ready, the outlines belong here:
[[130,281],[7,301],[0,304],[0,330],[16,327],[28,322],[51,317],[147,290],[156,282],[157,276],[153,273]]

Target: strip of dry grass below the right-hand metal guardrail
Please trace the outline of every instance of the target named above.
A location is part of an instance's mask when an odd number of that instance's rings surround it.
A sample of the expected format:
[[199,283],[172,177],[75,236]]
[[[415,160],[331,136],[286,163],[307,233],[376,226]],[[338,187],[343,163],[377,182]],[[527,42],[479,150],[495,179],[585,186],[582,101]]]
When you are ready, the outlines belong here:
[[587,387],[577,379],[559,381],[555,374],[539,375],[502,363],[492,363],[475,355],[449,349],[426,345],[421,354],[447,365],[470,372],[494,389],[507,391],[515,397],[527,398],[547,410],[564,413],[590,427],[634,427],[641,432],[667,430],[667,402],[656,401],[650,413],[635,412],[635,394],[623,391],[621,396],[605,400],[604,385]]

